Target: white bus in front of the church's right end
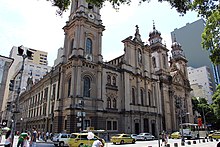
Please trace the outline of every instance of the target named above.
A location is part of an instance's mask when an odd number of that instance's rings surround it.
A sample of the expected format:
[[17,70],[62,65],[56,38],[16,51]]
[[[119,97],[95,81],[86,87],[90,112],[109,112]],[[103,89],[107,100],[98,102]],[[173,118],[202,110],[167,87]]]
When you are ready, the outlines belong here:
[[180,124],[180,133],[187,139],[198,139],[207,136],[207,131],[204,128],[200,128],[198,124],[193,123]]

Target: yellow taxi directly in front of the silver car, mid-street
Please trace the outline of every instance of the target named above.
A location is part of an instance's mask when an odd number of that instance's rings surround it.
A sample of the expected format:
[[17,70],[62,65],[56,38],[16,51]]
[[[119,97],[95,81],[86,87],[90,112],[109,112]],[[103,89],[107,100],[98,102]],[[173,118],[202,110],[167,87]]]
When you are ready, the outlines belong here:
[[129,134],[117,134],[111,137],[111,142],[113,144],[135,143],[136,139]]

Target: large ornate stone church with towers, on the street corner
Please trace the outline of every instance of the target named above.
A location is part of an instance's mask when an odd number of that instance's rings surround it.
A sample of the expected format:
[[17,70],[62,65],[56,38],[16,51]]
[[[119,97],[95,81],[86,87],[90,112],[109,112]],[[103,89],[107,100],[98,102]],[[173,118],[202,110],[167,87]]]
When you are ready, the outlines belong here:
[[176,40],[168,60],[155,25],[149,44],[136,26],[134,36],[122,41],[124,54],[103,62],[100,9],[85,0],[72,1],[63,29],[62,63],[36,84],[29,78],[17,128],[71,133],[90,127],[158,136],[193,122],[187,60]]

